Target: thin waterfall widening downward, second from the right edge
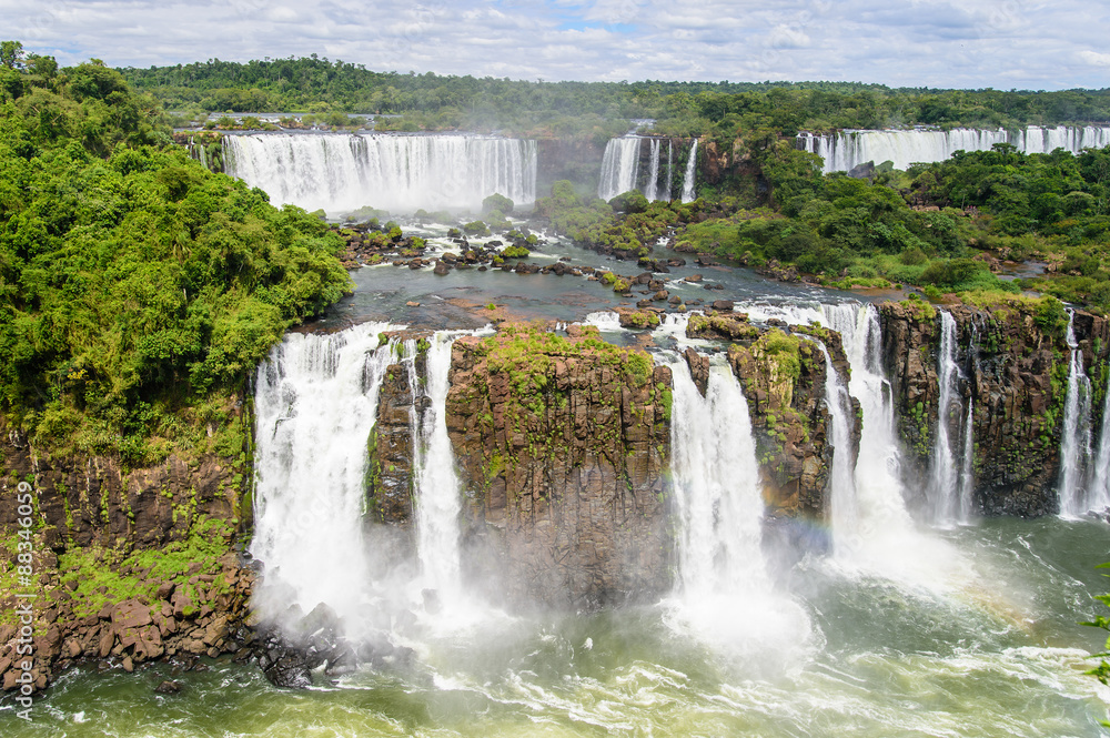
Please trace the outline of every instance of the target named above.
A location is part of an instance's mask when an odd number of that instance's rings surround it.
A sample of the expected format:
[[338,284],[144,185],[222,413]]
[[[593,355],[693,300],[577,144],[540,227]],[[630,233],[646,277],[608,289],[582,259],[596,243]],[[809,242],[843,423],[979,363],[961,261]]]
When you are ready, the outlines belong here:
[[1060,441],[1060,514],[1082,515],[1090,506],[1083,489],[1083,469],[1091,455],[1091,382],[1083,372],[1083,352],[1074,332],[1076,313],[1068,310],[1067,342],[1071,347],[1068,394],[1063,401]]

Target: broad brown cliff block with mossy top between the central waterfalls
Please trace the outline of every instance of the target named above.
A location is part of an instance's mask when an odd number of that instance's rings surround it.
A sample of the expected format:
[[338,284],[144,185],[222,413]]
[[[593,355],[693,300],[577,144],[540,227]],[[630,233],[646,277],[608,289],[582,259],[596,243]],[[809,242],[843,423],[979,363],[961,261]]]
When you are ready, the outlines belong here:
[[456,341],[447,429],[471,577],[566,608],[666,592],[670,386],[669,370],[588,330]]

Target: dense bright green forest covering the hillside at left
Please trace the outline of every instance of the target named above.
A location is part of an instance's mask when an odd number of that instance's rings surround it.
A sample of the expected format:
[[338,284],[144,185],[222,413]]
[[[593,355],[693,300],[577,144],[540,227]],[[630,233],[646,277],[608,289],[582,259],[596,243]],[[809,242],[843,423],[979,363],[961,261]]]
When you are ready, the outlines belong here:
[[239,453],[235,394],[349,287],[341,240],[191,161],[119,72],[2,52],[0,411],[135,465]]

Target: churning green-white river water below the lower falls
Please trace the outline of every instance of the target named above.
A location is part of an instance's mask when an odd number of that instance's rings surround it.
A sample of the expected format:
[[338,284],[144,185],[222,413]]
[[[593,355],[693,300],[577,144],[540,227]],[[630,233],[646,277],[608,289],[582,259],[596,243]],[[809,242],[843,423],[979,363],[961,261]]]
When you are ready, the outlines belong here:
[[[926,532],[960,562],[926,582],[805,560],[778,583],[807,616],[692,633],[663,603],[430,627],[418,659],[306,691],[215,661],[63,676],[26,736],[1099,736],[1104,688],[1077,625],[1106,527],[1057,518]],[[907,552],[912,554],[912,552]],[[794,625],[797,625],[795,623]],[[160,696],[162,679],[182,680]]]

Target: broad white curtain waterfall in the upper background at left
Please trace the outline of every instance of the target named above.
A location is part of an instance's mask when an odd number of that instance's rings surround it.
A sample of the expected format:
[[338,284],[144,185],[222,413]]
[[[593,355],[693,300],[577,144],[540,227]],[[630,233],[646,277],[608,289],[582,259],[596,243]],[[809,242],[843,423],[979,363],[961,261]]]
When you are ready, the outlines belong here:
[[536,199],[536,142],[478,135],[255,133],[223,139],[229,174],[276,205],[347,213]]

